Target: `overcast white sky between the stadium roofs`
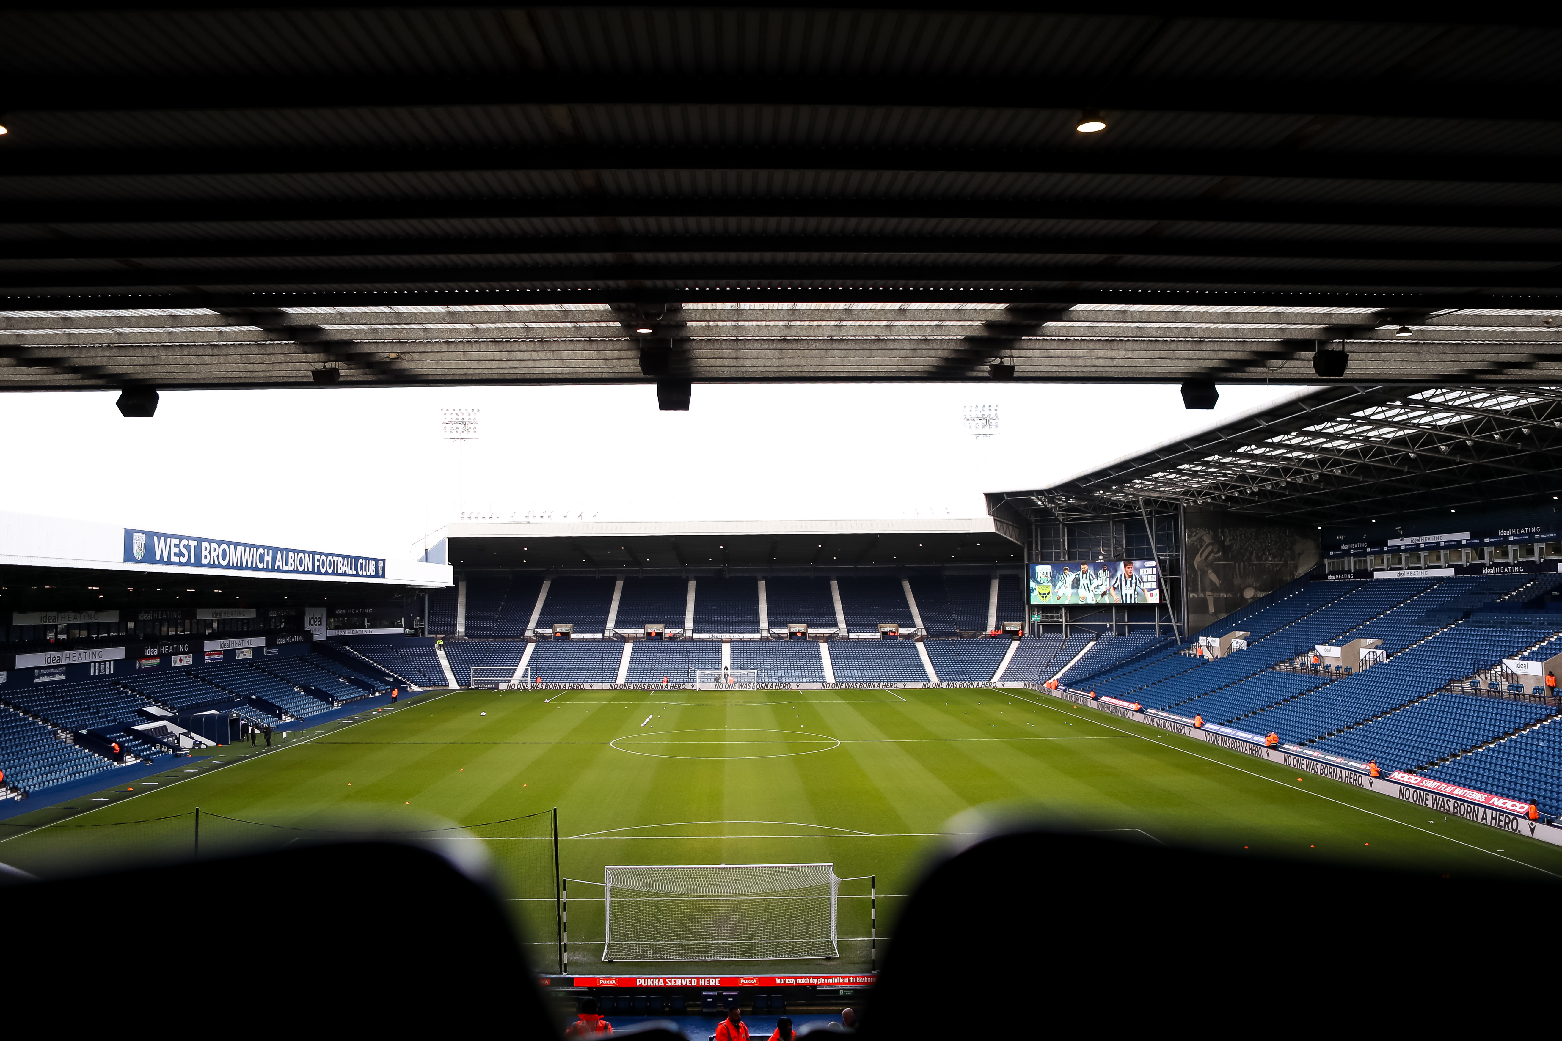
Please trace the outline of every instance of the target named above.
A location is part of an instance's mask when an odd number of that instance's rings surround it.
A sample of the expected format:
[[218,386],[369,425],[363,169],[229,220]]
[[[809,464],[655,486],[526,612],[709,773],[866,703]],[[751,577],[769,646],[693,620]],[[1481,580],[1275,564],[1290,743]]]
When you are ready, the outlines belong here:
[[[415,556],[458,512],[522,520],[979,517],[982,492],[1043,487],[1296,393],[1176,385],[711,385],[658,412],[648,385],[11,393],[6,509],[116,526]],[[965,406],[1001,434],[967,437]],[[440,409],[480,409],[480,440]]]

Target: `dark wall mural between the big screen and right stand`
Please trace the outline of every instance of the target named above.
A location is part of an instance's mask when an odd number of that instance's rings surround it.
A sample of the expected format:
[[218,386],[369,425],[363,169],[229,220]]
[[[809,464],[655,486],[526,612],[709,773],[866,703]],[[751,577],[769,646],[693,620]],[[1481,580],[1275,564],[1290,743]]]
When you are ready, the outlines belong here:
[[1318,532],[1221,510],[1182,515],[1187,627],[1198,632],[1318,567]]

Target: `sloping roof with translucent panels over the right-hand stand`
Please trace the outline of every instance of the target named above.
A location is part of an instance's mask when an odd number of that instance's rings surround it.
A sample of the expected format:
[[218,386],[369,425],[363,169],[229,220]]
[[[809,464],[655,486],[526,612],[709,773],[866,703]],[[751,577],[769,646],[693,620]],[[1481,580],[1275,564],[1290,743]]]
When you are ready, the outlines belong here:
[[1170,503],[1329,524],[1550,501],[1559,489],[1562,387],[1325,387],[987,503],[1034,523],[1139,518]]

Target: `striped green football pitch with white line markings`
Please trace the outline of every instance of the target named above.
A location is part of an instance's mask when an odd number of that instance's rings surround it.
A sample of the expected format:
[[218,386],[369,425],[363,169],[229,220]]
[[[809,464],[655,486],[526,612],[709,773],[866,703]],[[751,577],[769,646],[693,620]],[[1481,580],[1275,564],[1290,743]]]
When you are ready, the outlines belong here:
[[[604,865],[833,863],[854,880],[840,886],[842,958],[829,968],[867,968],[868,882],[858,879],[876,877],[883,958],[904,894],[928,857],[968,829],[951,819],[975,807],[1018,807],[1132,841],[1237,857],[1562,877],[1562,851],[1534,840],[1036,691],[993,688],[430,691],[294,732],[270,751],[214,749],[94,799],[14,818],[47,827],[8,827],[14,837],[0,841],[0,862],[27,868],[52,832],[86,835],[86,824],[173,819],[194,807],[301,827],[362,816],[408,829],[558,807],[561,871],[573,880],[569,969],[580,974],[637,968],[600,961]],[[993,916],[970,924],[973,950],[1001,936],[1004,901],[1051,899],[1048,883],[1070,880],[1045,863],[992,879]],[[350,894],[351,882],[337,882]],[[1153,890],[1154,880],[1142,882]],[[1220,893],[1201,901],[1218,907]],[[551,922],[551,904],[526,902],[511,901],[517,921],[533,930],[537,968],[556,971],[555,936],[536,935],[537,922]]]

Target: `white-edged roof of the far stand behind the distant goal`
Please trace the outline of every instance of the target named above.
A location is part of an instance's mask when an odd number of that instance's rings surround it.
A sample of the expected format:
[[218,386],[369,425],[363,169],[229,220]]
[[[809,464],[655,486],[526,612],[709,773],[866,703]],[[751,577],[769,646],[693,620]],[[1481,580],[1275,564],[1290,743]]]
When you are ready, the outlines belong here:
[[711,571],[1018,565],[1023,534],[1007,520],[461,523],[453,567],[548,571]]

